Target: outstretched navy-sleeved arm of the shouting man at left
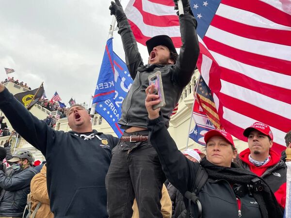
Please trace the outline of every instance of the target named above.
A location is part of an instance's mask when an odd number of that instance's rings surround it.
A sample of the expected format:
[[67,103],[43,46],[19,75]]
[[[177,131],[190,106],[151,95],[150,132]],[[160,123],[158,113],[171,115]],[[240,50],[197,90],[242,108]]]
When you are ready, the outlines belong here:
[[0,84],[0,109],[20,136],[46,155],[47,144],[54,140],[55,131],[33,116],[3,84]]

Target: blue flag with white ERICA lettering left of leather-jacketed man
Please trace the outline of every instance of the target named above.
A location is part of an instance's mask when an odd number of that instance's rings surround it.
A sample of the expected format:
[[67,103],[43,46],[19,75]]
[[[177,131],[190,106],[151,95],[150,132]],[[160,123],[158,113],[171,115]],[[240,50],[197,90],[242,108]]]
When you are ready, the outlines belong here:
[[121,116],[121,105],[131,87],[132,78],[126,63],[113,52],[112,39],[108,39],[106,43],[93,103],[97,103],[96,112],[107,121],[116,135],[121,137],[123,130],[117,121]]

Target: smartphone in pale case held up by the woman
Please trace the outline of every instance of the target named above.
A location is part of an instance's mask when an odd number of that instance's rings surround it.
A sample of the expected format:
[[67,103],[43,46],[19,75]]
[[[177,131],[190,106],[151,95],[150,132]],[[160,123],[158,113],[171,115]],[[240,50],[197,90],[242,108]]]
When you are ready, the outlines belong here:
[[153,105],[153,109],[155,110],[158,108],[162,108],[163,106],[166,105],[166,102],[165,102],[165,97],[164,97],[163,88],[162,88],[161,71],[157,71],[154,74],[148,76],[148,82],[149,82],[149,85],[151,85],[151,84],[155,85],[155,90],[156,90],[155,94],[158,94],[160,97],[160,103]]

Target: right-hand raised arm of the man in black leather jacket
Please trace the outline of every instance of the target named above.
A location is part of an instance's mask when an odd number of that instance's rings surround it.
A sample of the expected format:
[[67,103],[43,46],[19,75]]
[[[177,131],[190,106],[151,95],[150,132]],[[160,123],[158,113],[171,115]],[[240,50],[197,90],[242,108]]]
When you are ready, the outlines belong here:
[[183,0],[183,6],[184,16],[179,16],[182,46],[173,70],[174,80],[181,87],[190,82],[199,56],[197,21],[192,14],[189,0]]

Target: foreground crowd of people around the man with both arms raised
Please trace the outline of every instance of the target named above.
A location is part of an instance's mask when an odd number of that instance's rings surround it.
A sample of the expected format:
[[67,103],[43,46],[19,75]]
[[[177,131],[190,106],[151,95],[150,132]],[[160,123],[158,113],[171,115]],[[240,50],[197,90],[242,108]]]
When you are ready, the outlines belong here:
[[[205,154],[181,153],[167,130],[199,55],[189,3],[182,0],[180,54],[169,36],[155,36],[146,42],[144,64],[119,0],[111,2],[133,79],[118,121],[124,129],[120,139],[92,129],[80,104],[67,109],[72,131],[56,131],[49,126],[52,117],[32,116],[0,84],[0,109],[47,160],[38,173],[28,150],[8,157],[9,142],[5,151],[0,148],[0,158],[6,155],[12,165],[5,169],[0,163],[0,218],[283,218],[287,166],[284,154],[272,149],[270,126],[249,124],[243,131],[248,148],[240,154],[223,130],[204,135]],[[157,71],[167,102],[163,107],[157,107],[157,85],[148,86],[148,76]],[[285,141],[290,147],[291,131]]]

